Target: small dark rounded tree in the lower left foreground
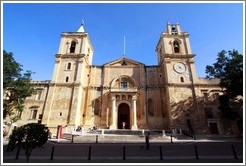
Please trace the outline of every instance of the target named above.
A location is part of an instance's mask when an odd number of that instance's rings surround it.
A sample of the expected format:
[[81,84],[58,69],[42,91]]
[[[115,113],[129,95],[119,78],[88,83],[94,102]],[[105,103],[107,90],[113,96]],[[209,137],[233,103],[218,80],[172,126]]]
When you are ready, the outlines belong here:
[[[29,162],[32,150],[42,147],[48,140],[49,129],[40,123],[28,123],[15,129],[9,137],[8,149],[25,149],[26,161]],[[17,154],[18,156],[19,154]]]

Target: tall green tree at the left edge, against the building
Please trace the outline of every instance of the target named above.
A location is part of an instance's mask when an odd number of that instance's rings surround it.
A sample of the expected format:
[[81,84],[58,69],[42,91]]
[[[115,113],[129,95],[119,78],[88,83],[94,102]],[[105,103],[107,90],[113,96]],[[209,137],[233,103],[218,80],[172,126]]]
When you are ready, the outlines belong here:
[[13,53],[3,50],[3,88],[5,98],[3,102],[3,118],[8,116],[10,123],[20,119],[24,109],[26,97],[35,92],[31,83],[31,71],[22,74],[22,65],[15,61]]

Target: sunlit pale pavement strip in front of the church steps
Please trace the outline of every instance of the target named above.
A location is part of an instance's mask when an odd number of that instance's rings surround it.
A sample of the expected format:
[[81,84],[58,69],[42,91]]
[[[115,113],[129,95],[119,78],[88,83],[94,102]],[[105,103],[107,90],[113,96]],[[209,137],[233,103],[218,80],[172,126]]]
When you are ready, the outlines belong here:
[[[50,139],[57,143],[145,143],[145,137],[141,135],[113,135],[113,134],[84,134],[75,135],[72,138]],[[149,141],[152,143],[187,143],[187,142],[242,142],[227,135],[199,134],[196,139],[187,136],[172,137],[169,135],[150,135]]]

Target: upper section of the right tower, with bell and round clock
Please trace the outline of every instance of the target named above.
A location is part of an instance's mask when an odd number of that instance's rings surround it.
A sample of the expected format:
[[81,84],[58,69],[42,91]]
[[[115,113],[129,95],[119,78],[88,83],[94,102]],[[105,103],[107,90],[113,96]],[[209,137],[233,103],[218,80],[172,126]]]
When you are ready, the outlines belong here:
[[181,30],[179,23],[167,23],[156,52],[166,83],[191,83],[196,79],[195,55],[191,51],[189,34]]

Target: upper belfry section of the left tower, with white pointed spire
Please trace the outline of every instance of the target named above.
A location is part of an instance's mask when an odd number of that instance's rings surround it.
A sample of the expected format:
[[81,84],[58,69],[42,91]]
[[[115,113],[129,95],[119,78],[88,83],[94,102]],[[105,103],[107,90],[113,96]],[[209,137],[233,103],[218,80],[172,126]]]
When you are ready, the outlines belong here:
[[82,83],[84,67],[92,64],[93,47],[83,24],[77,32],[63,32],[52,82],[54,83]]

